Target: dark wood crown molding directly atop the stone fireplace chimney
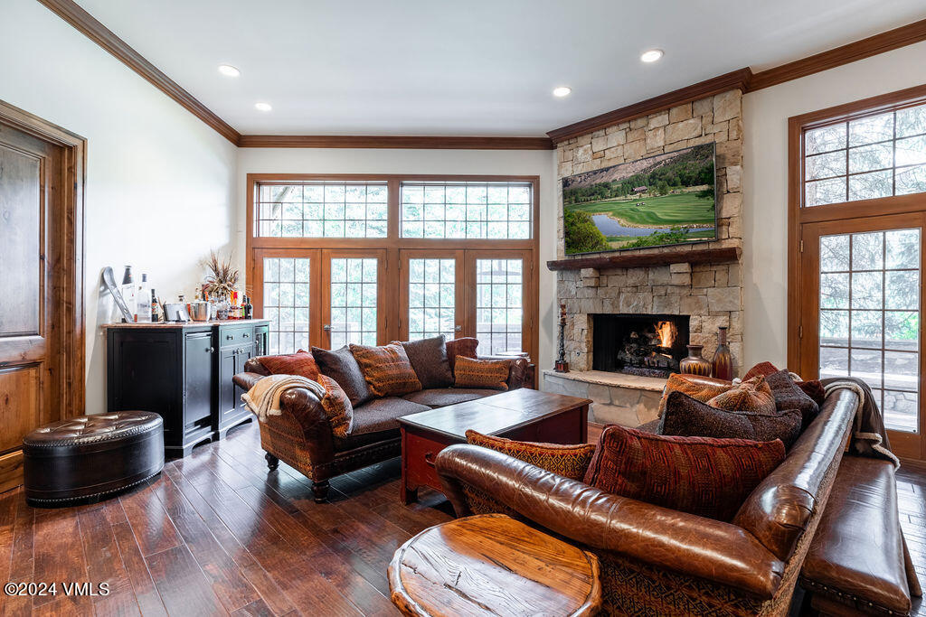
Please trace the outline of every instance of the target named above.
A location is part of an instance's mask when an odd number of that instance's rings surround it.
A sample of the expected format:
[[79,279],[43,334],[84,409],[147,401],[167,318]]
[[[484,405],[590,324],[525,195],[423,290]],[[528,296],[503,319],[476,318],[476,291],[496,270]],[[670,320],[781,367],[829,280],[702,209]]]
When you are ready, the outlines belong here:
[[627,122],[638,117],[648,116],[674,107],[675,105],[684,105],[706,96],[725,93],[728,90],[741,90],[745,92],[746,84],[752,77],[752,71],[747,68],[740,68],[729,73],[724,73],[709,80],[699,81],[690,86],[685,86],[679,90],[673,90],[670,93],[660,94],[651,99],[620,107],[599,116],[590,117],[579,122],[573,122],[565,127],[551,130],[546,133],[554,143],[565,142],[572,137],[578,137],[594,130],[604,129],[605,127],[614,126],[620,122]]

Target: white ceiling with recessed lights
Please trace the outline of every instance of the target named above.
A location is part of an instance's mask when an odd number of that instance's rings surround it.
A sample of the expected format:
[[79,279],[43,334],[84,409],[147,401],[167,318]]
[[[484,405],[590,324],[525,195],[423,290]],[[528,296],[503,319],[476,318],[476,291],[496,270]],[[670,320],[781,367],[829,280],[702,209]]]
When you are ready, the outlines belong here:
[[923,0],[78,2],[245,134],[543,135],[926,18]]

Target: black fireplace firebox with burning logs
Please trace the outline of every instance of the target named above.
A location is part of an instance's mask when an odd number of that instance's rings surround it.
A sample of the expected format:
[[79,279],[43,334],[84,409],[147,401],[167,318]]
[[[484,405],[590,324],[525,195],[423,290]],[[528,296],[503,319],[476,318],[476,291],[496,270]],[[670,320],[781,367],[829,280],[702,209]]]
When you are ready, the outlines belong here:
[[668,377],[687,355],[689,315],[592,315],[592,368]]

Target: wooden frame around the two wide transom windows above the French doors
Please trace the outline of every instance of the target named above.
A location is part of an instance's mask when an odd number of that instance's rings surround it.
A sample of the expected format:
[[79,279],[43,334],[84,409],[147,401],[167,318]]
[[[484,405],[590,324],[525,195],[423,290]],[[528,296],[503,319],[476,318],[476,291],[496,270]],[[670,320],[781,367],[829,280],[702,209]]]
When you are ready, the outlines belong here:
[[[271,182],[302,182],[311,180],[386,182],[388,188],[387,234],[385,238],[272,238],[255,237],[255,204],[257,185]],[[465,240],[465,239],[420,239],[400,237],[399,216],[401,212],[400,188],[402,182],[469,181],[469,182],[528,182],[532,185],[532,237],[529,240]],[[536,361],[540,350],[539,298],[540,290],[540,177],[539,176],[489,176],[489,175],[443,175],[443,174],[247,174],[245,212],[245,276],[246,283],[253,284],[260,277],[257,273],[257,251],[285,252],[294,250],[319,250],[362,252],[380,249],[385,252],[383,284],[385,289],[398,289],[401,277],[400,252],[426,250],[432,253],[478,250],[501,253],[517,251],[524,255],[524,265],[529,268],[525,281],[531,290],[526,292],[529,302],[524,305],[525,352]],[[319,253],[321,254],[321,253]],[[313,274],[316,272],[313,265]],[[314,313],[313,313],[314,315]],[[400,338],[398,322],[390,319],[384,326],[387,340]],[[314,327],[314,326],[313,326]],[[318,339],[317,339],[318,340]]]

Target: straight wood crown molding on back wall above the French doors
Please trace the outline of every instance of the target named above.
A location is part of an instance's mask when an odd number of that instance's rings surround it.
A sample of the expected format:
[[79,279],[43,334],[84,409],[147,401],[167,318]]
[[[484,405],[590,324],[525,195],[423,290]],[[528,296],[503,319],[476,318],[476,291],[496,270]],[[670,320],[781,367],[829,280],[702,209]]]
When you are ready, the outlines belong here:
[[547,137],[398,135],[242,135],[241,148],[393,148],[421,150],[553,150]]

